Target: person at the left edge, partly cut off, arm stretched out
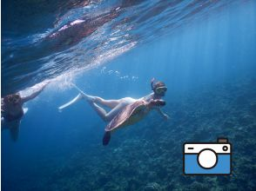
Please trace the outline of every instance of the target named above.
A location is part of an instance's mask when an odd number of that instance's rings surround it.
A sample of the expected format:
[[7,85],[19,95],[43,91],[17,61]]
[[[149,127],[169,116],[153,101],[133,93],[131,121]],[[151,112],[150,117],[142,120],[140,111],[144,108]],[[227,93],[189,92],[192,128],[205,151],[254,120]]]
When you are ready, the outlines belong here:
[[34,99],[48,83],[43,82],[31,87],[32,93],[30,95],[22,96],[21,92],[18,92],[1,98],[1,130],[10,129],[10,136],[13,141],[17,141],[20,122],[28,110],[23,108],[24,102]]

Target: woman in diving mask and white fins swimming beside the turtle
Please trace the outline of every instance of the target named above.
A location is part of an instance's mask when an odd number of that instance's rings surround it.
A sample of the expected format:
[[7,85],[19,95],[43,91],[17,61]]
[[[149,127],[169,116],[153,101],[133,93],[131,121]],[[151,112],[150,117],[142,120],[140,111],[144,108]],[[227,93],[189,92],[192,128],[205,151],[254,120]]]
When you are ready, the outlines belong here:
[[[73,99],[71,102],[67,102],[64,105],[60,106],[58,109],[62,111],[63,109],[71,106],[75,102],[84,99],[87,102],[90,103],[91,107],[98,113],[98,115],[105,121],[105,122],[111,122],[111,120],[118,115],[118,113],[125,108],[125,106],[137,102],[139,100],[144,100],[145,102],[150,102],[151,100],[159,100],[163,96],[165,96],[165,92],[167,90],[167,87],[165,86],[164,82],[155,82],[155,79],[153,78],[151,81],[152,86],[152,93],[149,95],[146,95],[144,97],[141,97],[139,99],[133,99],[131,97],[125,97],[118,100],[104,100],[103,98],[99,96],[92,96],[92,95],[86,95],[84,92],[82,92],[80,89],[77,88],[76,85],[73,85],[80,93]],[[108,107],[111,109],[111,111],[106,112],[105,109],[100,107],[99,105]],[[169,116],[166,115],[160,108],[157,108],[160,115],[162,115],[165,119],[168,119]]]

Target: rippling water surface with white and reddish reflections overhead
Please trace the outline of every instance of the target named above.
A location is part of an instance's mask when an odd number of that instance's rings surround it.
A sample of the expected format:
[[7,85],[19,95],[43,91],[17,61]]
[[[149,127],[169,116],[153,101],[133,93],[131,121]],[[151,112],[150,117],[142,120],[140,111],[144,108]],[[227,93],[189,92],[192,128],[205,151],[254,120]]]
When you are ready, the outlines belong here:
[[98,66],[234,2],[3,2],[3,94]]

